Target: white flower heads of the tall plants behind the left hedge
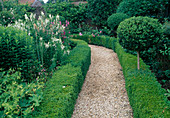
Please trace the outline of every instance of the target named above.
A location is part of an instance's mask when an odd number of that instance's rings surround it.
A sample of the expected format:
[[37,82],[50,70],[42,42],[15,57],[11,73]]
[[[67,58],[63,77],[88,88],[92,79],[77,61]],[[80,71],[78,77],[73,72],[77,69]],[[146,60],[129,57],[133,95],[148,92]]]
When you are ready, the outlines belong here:
[[[63,50],[63,55],[69,54],[68,48],[66,48],[61,41],[61,34],[64,32],[65,27],[61,24],[61,21],[59,21],[59,15],[56,17],[49,15],[49,18],[46,18],[44,13],[41,12],[41,16],[39,16],[38,20],[36,20],[35,14],[31,13],[30,16],[25,14],[25,21],[18,20],[15,22],[15,24],[9,26],[26,31],[28,35],[36,37],[36,39],[34,39],[36,40],[36,45],[40,45],[42,47],[37,52],[39,54],[43,54],[40,52],[47,51],[47,49],[50,47],[55,47],[57,51],[57,48],[59,48],[57,46],[60,46],[60,48]],[[48,42],[45,41],[46,39],[43,39],[46,35],[50,36]],[[41,57],[44,56],[42,55]]]

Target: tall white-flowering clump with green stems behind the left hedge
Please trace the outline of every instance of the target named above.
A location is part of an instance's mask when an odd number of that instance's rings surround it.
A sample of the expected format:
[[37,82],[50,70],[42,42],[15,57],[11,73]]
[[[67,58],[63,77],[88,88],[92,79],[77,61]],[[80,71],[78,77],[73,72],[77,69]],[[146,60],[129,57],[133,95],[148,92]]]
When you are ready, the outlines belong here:
[[69,54],[69,22],[66,20],[66,23],[62,24],[59,15],[55,17],[49,15],[49,18],[46,18],[43,12],[38,20],[35,17],[35,14],[30,16],[25,14],[25,21],[18,20],[14,25],[9,26],[26,31],[32,36],[37,59],[42,67],[54,68],[54,65],[58,66],[62,58]]

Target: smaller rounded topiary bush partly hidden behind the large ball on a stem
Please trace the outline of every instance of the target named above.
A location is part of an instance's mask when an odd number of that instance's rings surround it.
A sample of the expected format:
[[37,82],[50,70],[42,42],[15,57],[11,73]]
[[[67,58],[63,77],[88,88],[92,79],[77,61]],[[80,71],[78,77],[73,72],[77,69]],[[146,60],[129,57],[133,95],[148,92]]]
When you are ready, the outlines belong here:
[[124,13],[115,13],[109,16],[107,24],[112,30],[116,30],[118,25],[127,18],[129,18],[129,16]]

